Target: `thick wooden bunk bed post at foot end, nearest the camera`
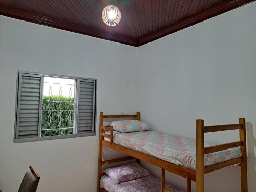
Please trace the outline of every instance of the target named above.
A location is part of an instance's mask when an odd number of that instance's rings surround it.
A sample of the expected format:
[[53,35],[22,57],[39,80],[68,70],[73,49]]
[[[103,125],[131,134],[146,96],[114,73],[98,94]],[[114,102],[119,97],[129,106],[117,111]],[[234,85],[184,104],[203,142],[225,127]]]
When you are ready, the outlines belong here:
[[201,119],[197,119],[196,145],[196,191],[204,192],[204,120]]

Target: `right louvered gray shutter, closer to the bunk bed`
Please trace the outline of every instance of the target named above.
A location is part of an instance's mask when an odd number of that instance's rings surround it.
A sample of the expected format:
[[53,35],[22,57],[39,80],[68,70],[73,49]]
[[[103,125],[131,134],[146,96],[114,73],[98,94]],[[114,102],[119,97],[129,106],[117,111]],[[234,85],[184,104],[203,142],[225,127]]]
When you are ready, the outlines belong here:
[[78,79],[77,133],[95,132],[96,81]]

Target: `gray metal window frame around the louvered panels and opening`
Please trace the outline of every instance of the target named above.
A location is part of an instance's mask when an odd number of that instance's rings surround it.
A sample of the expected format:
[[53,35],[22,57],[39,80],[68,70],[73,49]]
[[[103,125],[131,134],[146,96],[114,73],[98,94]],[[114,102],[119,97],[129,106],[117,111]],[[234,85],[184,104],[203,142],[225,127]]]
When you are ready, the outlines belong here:
[[[76,87],[75,87],[75,104],[74,104],[74,129],[75,129],[75,134],[74,134],[74,130],[73,130],[73,134],[70,135],[55,135],[55,136],[45,136],[45,137],[31,137],[31,138],[16,138],[17,135],[17,114],[18,114],[18,107],[19,107],[19,102],[18,102],[18,97],[19,97],[19,75],[20,74],[29,74],[29,75],[42,75],[43,77],[47,76],[47,77],[56,77],[56,78],[67,78],[67,79],[74,79],[75,83],[76,83]],[[78,133],[77,132],[77,115],[78,115],[78,91],[79,91],[79,87],[77,85],[78,80],[89,80],[89,81],[94,81],[94,106],[93,106],[93,118],[94,118],[94,122],[93,122],[93,127],[92,127],[92,131],[88,131],[87,133]],[[43,83],[42,83],[43,84]],[[41,92],[42,92],[43,87],[41,87]],[[40,93],[42,96],[42,93]],[[41,101],[40,101],[41,104]],[[41,106],[41,105],[40,105]],[[39,106],[39,108],[40,108]],[[40,120],[41,121],[41,120]],[[41,124],[41,122],[39,122]],[[86,136],[95,136],[96,135],[96,123],[97,123],[97,79],[94,78],[84,78],[84,77],[76,77],[76,76],[68,76],[68,75],[56,75],[56,74],[48,74],[48,73],[39,73],[39,72],[29,72],[29,71],[17,71],[17,79],[16,79],[16,97],[15,97],[15,124],[14,124],[14,138],[13,138],[13,142],[14,143],[20,143],[20,142],[32,142],[32,141],[42,141],[42,140],[53,140],[53,139],[64,139],[64,138],[75,138],[75,137],[86,137]],[[38,127],[38,132],[41,131],[41,127]],[[39,133],[38,133],[39,134]]]

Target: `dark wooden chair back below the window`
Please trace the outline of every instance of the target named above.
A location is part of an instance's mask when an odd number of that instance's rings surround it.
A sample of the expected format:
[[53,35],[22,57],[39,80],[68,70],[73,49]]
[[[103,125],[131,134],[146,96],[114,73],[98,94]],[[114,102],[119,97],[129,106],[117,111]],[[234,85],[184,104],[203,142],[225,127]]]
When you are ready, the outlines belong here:
[[18,192],[36,192],[40,175],[33,165],[30,165],[20,184]]

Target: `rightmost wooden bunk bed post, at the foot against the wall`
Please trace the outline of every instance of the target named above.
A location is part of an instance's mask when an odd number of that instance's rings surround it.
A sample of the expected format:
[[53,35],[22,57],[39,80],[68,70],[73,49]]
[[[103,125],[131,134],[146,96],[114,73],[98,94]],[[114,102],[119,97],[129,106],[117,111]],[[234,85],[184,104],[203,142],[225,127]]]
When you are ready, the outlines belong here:
[[240,164],[240,168],[241,168],[241,192],[248,192],[245,118],[239,118],[239,124],[242,124],[242,129],[239,129],[239,138],[240,138],[240,141],[243,142],[243,145],[240,146],[240,149],[241,149],[241,152],[242,152],[242,162]]

